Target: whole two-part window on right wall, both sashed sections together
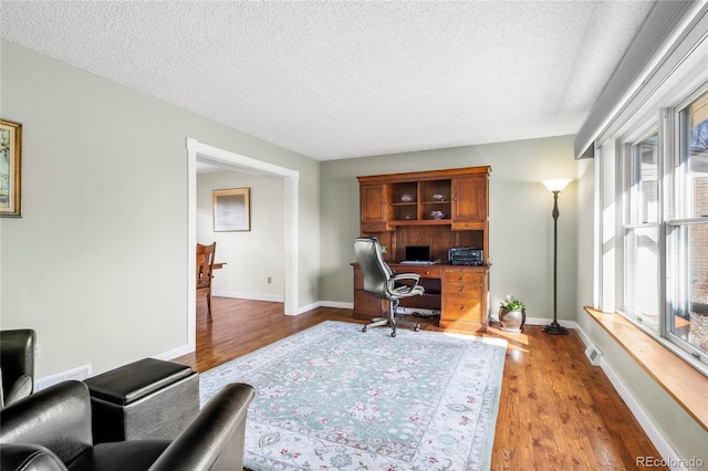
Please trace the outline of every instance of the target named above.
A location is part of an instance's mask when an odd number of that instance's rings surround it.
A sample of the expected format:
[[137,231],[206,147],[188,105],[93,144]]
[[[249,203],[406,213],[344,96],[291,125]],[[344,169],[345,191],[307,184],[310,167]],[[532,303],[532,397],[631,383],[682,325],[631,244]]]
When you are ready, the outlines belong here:
[[623,145],[621,312],[708,363],[708,84],[662,114]]

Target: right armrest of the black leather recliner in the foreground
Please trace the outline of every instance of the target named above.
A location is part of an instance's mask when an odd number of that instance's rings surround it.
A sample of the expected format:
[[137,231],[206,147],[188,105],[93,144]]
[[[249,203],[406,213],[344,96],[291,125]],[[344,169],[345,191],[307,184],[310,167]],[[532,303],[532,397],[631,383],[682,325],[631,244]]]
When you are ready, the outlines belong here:
[[246,415],[254,396],[249,385],[227,385],[167,447],[149,471],[242,469]]

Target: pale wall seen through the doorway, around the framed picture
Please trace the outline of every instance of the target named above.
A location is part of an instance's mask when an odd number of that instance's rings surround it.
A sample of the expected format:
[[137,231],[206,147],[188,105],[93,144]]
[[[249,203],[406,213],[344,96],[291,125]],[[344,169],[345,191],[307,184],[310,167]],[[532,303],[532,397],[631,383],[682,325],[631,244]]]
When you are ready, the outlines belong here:
[[[246,187],[250,188],[251,230],[214,232],[211,191]],[[284,300],[284,187],[281,178],[240,171],[197,177],[197,241],[217,242],[216,261],[227,263],[216,272],[214,295]]]

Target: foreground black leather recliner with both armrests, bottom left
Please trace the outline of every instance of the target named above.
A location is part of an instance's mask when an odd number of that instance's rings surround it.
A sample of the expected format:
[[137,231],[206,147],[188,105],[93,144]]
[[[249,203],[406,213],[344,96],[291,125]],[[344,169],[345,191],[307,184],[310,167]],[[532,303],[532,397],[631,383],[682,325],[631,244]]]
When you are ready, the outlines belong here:
[[241,470],[246,415],[253,388],[231,384],[173,441],[93,443],[91,397],[63,381],[0,410],[2,471]]

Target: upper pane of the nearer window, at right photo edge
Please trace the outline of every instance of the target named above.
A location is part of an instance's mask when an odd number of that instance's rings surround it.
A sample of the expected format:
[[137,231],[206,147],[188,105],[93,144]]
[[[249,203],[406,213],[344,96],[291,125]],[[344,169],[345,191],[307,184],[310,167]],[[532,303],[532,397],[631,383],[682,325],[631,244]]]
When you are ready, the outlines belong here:
[[708,93],[681,111],[677,218],[708,217]]

